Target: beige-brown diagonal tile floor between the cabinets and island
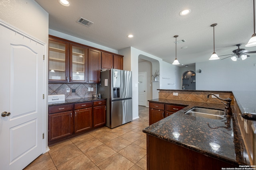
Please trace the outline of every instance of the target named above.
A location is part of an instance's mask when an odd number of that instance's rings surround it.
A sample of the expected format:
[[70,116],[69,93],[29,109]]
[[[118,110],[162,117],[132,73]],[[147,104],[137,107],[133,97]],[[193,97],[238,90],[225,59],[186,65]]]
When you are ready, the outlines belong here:
[[139,117],[53,145],[24,170],[146,170],[148,107],[139,106]]

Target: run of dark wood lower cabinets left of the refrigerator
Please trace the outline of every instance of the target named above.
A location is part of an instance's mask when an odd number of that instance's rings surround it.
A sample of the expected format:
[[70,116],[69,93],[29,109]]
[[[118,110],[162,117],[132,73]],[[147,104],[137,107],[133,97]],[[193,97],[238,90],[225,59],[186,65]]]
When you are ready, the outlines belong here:
[[62,104],[48,108],[48,145],[106,124],[106,100]]

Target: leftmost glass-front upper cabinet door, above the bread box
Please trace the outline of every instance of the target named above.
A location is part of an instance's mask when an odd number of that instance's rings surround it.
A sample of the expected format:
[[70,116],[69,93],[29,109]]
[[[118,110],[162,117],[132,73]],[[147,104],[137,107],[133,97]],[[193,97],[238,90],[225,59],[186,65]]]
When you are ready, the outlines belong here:
[[49,39],[49,81],[67,82],[68,43]]

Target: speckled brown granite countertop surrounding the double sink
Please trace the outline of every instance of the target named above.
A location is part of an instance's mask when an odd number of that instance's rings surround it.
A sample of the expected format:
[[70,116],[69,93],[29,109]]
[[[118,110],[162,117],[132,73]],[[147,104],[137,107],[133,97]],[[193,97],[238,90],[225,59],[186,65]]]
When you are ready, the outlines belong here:
[[[186,107],[146,127],[143,129],[144,133],[234,165],[250,164],[236,113],[232,117],[224,117],[222,120],[184,114],[184,111],[191,107],[224,109],[224,104],[169,99],[153,99],[149,101],[185,105]],[[227,119],[231,128],[226,125]],[[173,132],[180,133],[180,136],[175,138],[172,134]],[[216,143],[220,145],[220,148],[215,151],[210,147],[210,143]]]

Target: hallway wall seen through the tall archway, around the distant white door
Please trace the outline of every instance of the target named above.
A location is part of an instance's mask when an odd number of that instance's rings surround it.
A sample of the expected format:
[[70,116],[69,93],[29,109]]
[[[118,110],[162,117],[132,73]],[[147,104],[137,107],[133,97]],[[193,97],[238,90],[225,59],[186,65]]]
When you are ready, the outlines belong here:
[[147,75],[147,81],[146,81],[146,106],[148,107],[149,106],[149,102],[148,100],[152,99],[152,83],[154,82],[151,82],[152,80],[152,63],[150,61],[145,61],[145,62],[140,62],[138,64],[138,67],[139,67],[139,72],[146,72]]

